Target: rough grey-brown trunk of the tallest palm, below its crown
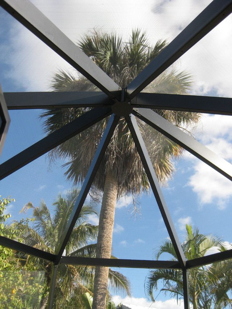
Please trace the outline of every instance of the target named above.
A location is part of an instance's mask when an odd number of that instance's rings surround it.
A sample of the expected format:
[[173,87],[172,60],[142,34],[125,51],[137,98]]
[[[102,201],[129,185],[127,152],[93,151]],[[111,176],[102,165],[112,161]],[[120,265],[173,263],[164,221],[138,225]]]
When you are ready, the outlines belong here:
[[[105,177],[102,207],[99,216],[96,257],[111,257],[114,212],[117,201],[117,193],[118,182],[112,175],[107,174]],[[108,273],[109,267],[95,267],[92,309],[103,309],[106,307]]]

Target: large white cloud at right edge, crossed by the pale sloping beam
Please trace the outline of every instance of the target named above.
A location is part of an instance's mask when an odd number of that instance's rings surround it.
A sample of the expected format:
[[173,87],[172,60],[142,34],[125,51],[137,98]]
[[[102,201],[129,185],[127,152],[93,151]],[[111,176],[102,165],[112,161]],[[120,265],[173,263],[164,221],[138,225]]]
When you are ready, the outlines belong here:
[[[230,116],[203,115],[195,137],[223,159],[232,161],[232,121]],[[232,198],[231,182],[207,164],[184,152],[184,159],[191,164],[192,175],[187,185],[197,194],[199,204],[214,203],[224,209]]]

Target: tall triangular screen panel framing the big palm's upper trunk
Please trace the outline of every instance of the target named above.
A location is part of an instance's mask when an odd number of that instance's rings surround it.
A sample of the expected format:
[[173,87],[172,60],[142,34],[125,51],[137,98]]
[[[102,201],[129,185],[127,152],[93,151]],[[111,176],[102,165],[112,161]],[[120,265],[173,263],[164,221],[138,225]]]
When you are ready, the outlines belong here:
[[[90,209],[88,220],[86,209]],[[78,243],[78,230],[89,228],[89,223],[93,226],[93,234],[88,234],[89,230],[86,238],[79,239]],[[70,236],[66,255],[96,257],[97,235],[98,243],[101,243],[97,248],[107,247],[97,249],[100,250],[97,257],[110,258],[112,255],[146,260],[154,258],[154,248],[169,236],[123,118],[119,120]],[[102,252],[104,256],[101,256]]]

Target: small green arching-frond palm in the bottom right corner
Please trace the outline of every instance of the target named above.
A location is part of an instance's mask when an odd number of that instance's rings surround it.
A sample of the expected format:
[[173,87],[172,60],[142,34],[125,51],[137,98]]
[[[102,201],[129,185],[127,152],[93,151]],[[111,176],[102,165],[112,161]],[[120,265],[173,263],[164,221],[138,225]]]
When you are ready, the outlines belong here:
[[[217,247],[220,251],[226,248],[223,241],[212,235],[199,234],[199,229],[186,225],[186,238],[182,244],[185,257],[190,260],[203,257],[206,252]],[[172,260],[177,256],[171,241],[166,240],[156,252],[158,260],[161,254],[169,253]],[[223,261],[208,266],[195,267],[189,270],[189,300],[193,309],[222,309],[232,304],[228,292],[232,288],[232,261]],[[182,272],[176,269],[151,270],[145,281],[147,295],[155,301],[153,290],[157,290],[158,282],[163,281],[160,291],[170,292],[172,297],[183,298]]]

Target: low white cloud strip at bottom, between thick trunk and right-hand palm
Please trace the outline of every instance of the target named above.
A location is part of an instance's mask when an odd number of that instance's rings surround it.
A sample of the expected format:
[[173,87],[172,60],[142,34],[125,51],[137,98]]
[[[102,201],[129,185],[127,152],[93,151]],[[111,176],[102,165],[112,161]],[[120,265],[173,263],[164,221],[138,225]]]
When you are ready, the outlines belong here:
[[174,299],[168,299],[166,301],[156,301],[155,303],[149,302],[146,298],[137,298],[137,297],[125,297],[122,298],[118,295],[113,296],[113,302],[117,306],[119,303],[123,303],[124,305],[136,305],[138,307],[133,307],[133,309],[143,309],[143,307],[150,307],[150,308],[159,308],[159,309],[184,309],[183,301],[177,301]]

